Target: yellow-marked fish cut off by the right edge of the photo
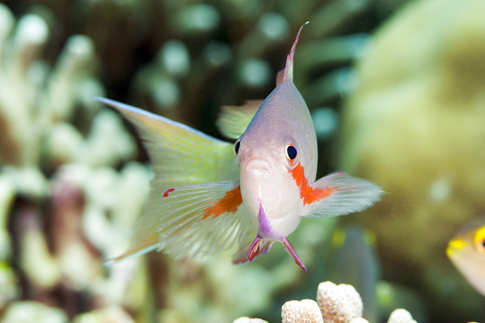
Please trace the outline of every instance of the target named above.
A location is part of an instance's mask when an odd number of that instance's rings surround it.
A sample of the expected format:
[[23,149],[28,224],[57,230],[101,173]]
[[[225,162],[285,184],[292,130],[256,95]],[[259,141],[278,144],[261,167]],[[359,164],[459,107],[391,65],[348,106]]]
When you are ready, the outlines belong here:
[[485,216],[462,227],[448,243],[446,255],[470,285],[485,296]]

